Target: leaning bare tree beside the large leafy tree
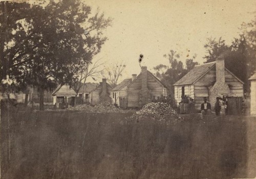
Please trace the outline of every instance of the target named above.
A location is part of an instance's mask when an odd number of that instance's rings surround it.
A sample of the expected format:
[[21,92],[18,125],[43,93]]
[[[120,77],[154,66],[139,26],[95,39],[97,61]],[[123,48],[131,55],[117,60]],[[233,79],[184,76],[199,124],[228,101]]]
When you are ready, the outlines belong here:
[[102,69],[100,70],[100,66],[104,64],[104,62],[101,62],[101,59],[98,59],[94,63],[86,62],[82,68],[78,72],[79,79],[78,81],[74,84],[75,91],[78,93],[80,88],[82,87],[82,99],[83,99],[83,92],[84,92],[84,87],[86,86],[86,81],[89,77],[91,77],[93,80],[96,80],[96,78],[99,78],[99,75],[103,71]]

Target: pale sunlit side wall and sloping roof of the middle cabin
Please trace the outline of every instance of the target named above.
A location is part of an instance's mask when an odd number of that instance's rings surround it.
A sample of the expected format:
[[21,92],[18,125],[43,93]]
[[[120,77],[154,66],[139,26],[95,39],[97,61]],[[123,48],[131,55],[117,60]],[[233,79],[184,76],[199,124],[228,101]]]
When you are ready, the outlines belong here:
[[[136,75],[133,75],[133,79],[136,78]],[[121,83],[119,83],[116,87],[114,87],[111,91],[112,94],[112,103],[120,106],[120,99],[126,98],[128,91],[127,86],[132,82],[132,78],[124,79]],[[122,107],[123,105],[121,105]]]

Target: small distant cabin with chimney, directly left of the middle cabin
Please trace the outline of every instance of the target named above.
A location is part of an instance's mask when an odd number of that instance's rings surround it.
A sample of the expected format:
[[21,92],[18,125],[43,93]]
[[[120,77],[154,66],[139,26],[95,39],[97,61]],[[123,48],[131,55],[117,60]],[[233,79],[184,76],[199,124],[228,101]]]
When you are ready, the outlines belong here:
[[102,82],[90,93],[90,100],[93,105],[99,104],[102,101],[111,102],[111,90],[113,88],[103,78]]

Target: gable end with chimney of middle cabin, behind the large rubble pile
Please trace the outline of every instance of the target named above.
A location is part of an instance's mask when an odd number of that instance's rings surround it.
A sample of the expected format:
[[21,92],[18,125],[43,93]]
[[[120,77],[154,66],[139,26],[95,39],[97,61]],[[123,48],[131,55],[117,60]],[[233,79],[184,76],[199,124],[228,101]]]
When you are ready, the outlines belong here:
[[127,107],[142,107],[151,102],[153,96],[166,96],[167,87],[146,66],[142,66],[141,73],[127,85]]

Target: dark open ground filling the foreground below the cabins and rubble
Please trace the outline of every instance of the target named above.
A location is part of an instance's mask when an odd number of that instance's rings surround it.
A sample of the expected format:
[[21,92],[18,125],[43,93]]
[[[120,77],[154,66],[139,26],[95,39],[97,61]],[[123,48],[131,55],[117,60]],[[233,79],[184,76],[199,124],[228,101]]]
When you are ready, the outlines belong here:
[[[253,178],[256,120],[166,125],[77,111],[1,116],[1,178]],[[9,149],[10,147],[10,155]]]

